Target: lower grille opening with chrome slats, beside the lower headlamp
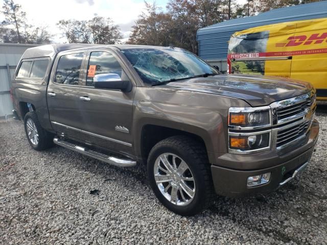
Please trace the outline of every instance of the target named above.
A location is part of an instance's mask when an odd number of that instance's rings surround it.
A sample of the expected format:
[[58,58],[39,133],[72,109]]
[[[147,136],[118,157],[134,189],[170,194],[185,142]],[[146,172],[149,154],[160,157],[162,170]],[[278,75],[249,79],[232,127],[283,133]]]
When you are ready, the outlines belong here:
[[301,136],[304,136],[311,124],[311,120],[302,122],[293,127],[282,129],[277,132],[276,147],[287,144]]

